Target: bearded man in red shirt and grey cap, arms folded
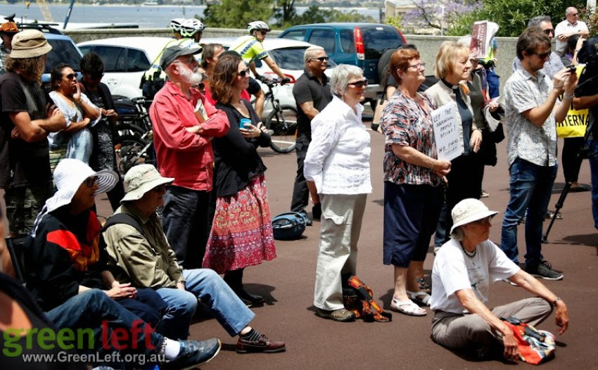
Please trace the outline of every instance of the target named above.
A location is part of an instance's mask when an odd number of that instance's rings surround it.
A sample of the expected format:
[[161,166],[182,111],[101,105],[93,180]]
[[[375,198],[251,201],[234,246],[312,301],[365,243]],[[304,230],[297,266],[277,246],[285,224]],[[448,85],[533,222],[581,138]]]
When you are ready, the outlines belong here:
[[168,243],[186,269],[201,267],[208,241],[212,191],[212,138],[227,134],[229,120],[194,88],[201,82],[194,55],[200,47],[165,49],[160,66],[168,81],[150,108],[160,174],[174,177],[165,196],[162,224]]

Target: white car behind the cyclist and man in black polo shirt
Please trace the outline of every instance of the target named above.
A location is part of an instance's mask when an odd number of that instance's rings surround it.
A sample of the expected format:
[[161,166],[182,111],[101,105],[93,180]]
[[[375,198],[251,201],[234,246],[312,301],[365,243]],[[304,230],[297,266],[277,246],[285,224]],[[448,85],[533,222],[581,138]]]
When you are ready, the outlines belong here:
[[[229,49],[229,46],[231,46],[235,40],[236,37],[206,38],[201,39],[200,44],[221,44],[224,46],[224,49]],[[282,106],[297,106],[295,103],[295,98],[293,97],[293,84],[300,75],[303,75],[303,70],[305,70],[303,54],[305,53],[305,49],[313,46],[313,44],[296,40],[276,38],[266,38],[263,44],[270,58],[274,59],[284,75],[291,79],[290,83],[275,87],[274,96],[279,99]],[[331,68],[334,67],[336,67],[336,63],[334,63],[332,60],[329,60],[326,75],[330,75]],[[268,65],[266,63],[262,63],[261,60],[257,60],[255,62],[255,69],[260,75],[270,78],[278,78],[278,76],[272,72],[272,70],[270,70]],[[265,84],[262,84],[262,89],[264,91],[268,91]],[[262,117],[267,117],[271,110],[272,105],[267,102],[264,106],[264,113],[262,113]]]

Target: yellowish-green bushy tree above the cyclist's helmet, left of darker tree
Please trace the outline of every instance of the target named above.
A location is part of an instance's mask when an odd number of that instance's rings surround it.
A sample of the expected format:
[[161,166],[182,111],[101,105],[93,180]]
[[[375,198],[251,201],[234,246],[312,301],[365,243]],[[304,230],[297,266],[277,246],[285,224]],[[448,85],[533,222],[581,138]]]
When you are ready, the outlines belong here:
[[222,0],[208,4],[201,21],[208,27],[245,28],[254,20],[268,23],[273,14],[272,1],[269,0]]

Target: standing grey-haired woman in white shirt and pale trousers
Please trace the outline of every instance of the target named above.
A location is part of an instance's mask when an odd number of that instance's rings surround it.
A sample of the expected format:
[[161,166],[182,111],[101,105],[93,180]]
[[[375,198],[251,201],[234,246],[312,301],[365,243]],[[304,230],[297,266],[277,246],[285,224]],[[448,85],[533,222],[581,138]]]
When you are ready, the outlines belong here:
[[312,120],[303,172],[312,203],[322,202],[314,306],[319,317],[353,321],[343,286],[357,271],[367,194],[371,193],[369,134],[362,123],[367,79],[361,68],[338,65],[330,77],[332,101]]

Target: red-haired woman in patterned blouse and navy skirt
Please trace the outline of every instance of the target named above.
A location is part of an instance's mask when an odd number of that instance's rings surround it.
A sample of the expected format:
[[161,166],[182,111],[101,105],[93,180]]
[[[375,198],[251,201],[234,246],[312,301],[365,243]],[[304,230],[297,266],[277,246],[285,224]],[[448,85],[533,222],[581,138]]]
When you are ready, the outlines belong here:
[[384,155],[383,263],[395,267],[390,308],[424,316],[430,295],[421,289],[424,260],[442,205],[441,177],[450,162],[436,159],[431,100],[417,92],[426,68],[413,49],[399,49],[390,58],[390,72],[398,89],[381,117],[386,136]]

